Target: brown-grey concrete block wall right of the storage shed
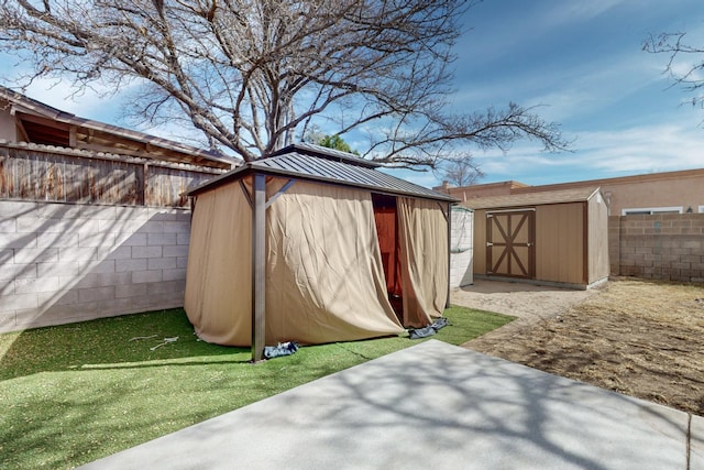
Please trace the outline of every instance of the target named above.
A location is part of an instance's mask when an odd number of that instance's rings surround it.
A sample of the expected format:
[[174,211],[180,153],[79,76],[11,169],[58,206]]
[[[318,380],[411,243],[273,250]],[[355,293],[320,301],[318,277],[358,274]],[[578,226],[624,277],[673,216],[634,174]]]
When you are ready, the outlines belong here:
[[612,274],[704,282],[704,214],[609,217],[608,223]]

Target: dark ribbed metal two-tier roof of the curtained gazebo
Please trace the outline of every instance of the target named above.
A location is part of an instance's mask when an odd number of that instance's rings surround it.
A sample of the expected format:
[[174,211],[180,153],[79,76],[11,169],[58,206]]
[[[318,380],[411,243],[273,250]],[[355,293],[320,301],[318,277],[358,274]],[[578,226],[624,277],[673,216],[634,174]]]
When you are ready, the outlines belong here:
[[376,170],[375,162],[312,144],[294,144],[211,179],[188,193],[195,196],[251,173],[353,186],[383,194],[457,203],[458,199]]

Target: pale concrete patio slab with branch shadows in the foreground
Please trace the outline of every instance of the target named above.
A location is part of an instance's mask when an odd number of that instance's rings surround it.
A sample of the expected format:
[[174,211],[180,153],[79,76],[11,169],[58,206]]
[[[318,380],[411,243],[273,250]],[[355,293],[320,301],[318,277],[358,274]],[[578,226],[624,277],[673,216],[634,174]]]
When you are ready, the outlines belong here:
[[[672,408],[430,340],[84,468],[685,470],[689,425]],[[702,420],[692,428],[701,466]]]

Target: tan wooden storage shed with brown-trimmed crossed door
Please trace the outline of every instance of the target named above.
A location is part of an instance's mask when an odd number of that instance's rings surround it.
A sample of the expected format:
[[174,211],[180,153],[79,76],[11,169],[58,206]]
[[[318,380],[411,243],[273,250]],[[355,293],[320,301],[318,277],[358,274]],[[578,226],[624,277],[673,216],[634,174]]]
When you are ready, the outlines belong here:
[[598,188],[469,199],[474,275],[588,288],[608,278],[608,216]]

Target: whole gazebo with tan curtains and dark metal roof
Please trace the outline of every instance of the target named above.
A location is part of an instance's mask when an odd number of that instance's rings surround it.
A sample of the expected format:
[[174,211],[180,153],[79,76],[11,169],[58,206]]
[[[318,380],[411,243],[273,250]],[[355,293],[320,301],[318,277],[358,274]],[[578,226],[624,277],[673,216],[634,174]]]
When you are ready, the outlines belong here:
[[200,186],[185,309],[229,346],[397,335],[448,302],[448,195],[295,144]]

